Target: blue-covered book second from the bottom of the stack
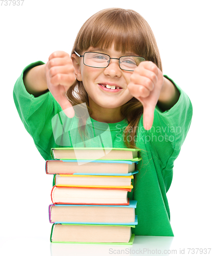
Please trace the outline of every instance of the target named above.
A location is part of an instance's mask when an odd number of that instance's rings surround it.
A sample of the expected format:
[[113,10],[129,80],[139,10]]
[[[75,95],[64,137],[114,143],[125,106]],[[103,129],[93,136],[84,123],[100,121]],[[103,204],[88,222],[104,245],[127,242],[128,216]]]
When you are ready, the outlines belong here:
[[63,224],[137,225],[136,200],[128,205],[50,204],[49,222]]

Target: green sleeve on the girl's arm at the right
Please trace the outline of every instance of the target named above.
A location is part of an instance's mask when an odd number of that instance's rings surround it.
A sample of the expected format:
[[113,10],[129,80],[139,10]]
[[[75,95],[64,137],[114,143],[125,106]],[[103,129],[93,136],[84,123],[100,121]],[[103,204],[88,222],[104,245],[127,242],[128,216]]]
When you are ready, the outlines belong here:
[[[175,84],[180,96],[176,104],[163,112],[157,105],[154,111],[153,125],[150,130],[142,129],[146,141],[150,142],[154,156],[162,162],[163,168],[172,169],[174,160],[188,134],[192,120],[192,103],[188,95]],[[140,122],[143,122],[141,118]]]

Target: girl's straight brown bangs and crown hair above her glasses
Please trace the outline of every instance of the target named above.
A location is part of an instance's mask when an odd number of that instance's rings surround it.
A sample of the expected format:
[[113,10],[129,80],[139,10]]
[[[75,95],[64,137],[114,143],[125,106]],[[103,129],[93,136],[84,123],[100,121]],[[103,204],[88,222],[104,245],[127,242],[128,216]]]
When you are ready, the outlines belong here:
[[153,61],[160,59],[156,41],[146,20],[137,12],[125,9],[105,9],[91,16],[79,31],[73,51],[82,54],[89,47],[131,52]]

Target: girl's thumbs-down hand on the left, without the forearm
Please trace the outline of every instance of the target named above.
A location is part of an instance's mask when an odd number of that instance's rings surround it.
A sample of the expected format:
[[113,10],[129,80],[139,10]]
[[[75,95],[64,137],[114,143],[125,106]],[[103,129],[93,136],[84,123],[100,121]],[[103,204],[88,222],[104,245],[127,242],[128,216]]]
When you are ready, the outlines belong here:
[[72,118],[74,110],[65,95],[76,80],[69,54],[63,51],[52,53],[46,63],[45,73],[48,90],[58,101],[66,116]]

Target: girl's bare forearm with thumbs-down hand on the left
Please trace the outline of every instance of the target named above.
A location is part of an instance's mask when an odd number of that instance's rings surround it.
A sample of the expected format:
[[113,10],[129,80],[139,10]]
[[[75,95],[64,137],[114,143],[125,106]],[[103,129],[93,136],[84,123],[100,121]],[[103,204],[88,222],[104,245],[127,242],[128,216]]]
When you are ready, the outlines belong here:
[[66,92],[75,80],[72,60],[69,54],[63,51],[52,53],[46,64],[26,71],[23,77],[28,93],[38,97],[49,90],[64,113],[70,118],[74,116],[74,111],[66,98]]

